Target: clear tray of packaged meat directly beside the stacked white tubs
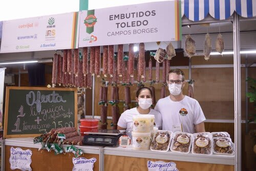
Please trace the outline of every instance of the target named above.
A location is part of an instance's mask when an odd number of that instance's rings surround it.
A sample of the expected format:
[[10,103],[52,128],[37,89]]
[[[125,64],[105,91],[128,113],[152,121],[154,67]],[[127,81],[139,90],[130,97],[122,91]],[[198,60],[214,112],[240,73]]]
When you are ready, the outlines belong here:
[[167,152],[170,147],[170,141],[173,138],[172,131],[158,130],[154,135],[150,149],[152,151]]

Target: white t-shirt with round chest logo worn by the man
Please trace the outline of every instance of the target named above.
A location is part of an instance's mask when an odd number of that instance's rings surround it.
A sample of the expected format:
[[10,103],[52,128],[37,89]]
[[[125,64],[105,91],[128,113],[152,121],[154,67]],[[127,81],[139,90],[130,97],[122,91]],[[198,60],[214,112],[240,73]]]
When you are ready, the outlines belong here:
[[195,125],[206,120],[199,102],[188,96],[181,101],[173,101],[170,96],[159,99],[155,110],[162,116],[162,130],[167,131],[193,134]]

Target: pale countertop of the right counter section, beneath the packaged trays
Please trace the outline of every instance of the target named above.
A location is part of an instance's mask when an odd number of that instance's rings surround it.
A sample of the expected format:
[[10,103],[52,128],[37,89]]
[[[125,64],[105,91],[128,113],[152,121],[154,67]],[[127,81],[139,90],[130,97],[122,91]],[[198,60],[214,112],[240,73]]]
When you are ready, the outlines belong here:
[[121,146],[104,147],[104,155],[234,165],[234,155],[200,155],[192,153],[183,154],[171,151],[156,152],[151,150],[134,150],[131,145],[125,148]]

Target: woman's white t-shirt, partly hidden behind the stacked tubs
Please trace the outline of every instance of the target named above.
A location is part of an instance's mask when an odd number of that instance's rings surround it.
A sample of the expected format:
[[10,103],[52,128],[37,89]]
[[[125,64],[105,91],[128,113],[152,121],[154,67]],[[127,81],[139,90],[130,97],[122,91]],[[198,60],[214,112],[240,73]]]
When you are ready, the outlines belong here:
[[[149,115],[155,115],[155,123],[156,123],[156,127],[161,128],[162,127],[162,118],[161,118],[161,114],[157,111],[155,111],[154,109],[150,109],[150,113],[148,113]],[[138,111],[137,108],[132,108],[130,110],[126,110],[124,111],[118,122],[117,125],[123,128],[126,127],[131,127],[133,124],[133,116],[135,115],[141,115]],[[145,114],[147,115],[147,114]]]

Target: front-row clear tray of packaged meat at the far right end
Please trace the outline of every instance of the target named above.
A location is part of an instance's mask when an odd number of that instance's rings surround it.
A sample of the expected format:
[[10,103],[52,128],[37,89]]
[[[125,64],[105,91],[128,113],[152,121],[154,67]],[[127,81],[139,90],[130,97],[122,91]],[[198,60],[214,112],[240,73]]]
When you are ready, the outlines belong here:
[[230,138],[227,137],[215,137],[214,139],[214,153],[215,154],[225,154],[233,155],[234,148],[233,143]]

